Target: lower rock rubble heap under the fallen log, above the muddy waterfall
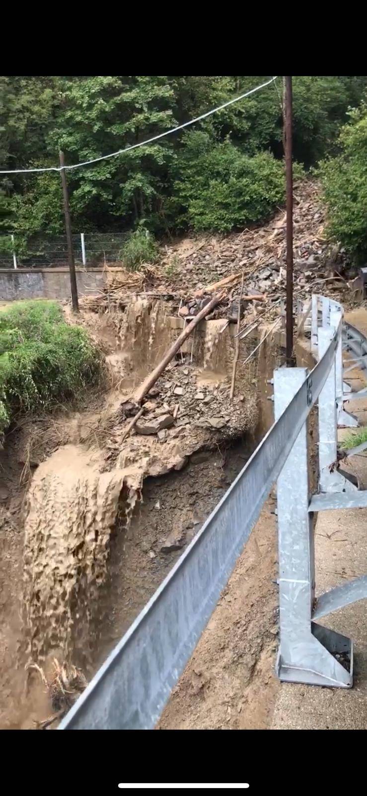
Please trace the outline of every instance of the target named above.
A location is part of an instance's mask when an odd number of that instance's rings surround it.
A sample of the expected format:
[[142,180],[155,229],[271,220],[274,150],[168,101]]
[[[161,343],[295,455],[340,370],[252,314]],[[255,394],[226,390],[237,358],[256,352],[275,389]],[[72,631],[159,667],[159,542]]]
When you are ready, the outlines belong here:
[[[256,428],[256,364],[249,363],[243,369],[232,401],[226,375],[214,373],[212,366],[209,361],[208,368],[198,372],[197,365],[191,364],[190,355],[187,355],[183,361],[174,361],[156,380],[139,412],[133,400],[122,403],[106,444],[108,466],[122,451],[122,443],[124,454],[120,466],[133,463],[137,451],[139,456],[148,456],[152,462],[152,455],[168,461],[171,453],[176,455],[180,450],[182,455],[176,462],[179,463],[182,456],[190,455],[201,444],[211,447],[218,439],[237,439],[245,430]],[[131,418],[136,422],[132,424]],[[137,439],[138,447],[133,439]],[[160,443],[164,446],[161,453],[155,448]],[[172,465],[175,468],[176,463]]]

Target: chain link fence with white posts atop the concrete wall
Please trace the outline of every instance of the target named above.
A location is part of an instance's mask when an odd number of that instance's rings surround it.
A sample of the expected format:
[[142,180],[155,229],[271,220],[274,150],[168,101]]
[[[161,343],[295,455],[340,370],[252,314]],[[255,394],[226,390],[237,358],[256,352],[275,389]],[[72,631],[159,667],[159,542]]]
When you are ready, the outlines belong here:
[[[76,266],[99,267],[121,262],[127,232],[83,232],[72,236]],[[2,236],[0,268],[56,268],[68,266],[66,235],[37,235],[26,245],[17,236]]]

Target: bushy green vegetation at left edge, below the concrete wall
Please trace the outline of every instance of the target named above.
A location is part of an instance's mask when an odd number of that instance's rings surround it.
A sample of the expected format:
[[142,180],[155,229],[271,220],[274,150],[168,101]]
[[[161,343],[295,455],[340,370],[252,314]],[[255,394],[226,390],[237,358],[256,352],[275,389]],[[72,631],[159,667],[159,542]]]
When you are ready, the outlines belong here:
[[14,302],[0,312],[0,435],[17,412],[48,408],[98,380],[87,332],[52,301]]

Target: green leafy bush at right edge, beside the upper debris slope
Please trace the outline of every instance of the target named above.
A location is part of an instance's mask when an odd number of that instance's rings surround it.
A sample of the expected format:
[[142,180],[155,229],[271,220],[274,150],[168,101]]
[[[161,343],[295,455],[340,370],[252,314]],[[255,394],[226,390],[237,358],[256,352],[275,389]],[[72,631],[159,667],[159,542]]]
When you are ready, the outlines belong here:
[[367,106],[350,113],[342,128],[340,152],[319,172],[328,207],[330,235],[357,260],[367,257]]

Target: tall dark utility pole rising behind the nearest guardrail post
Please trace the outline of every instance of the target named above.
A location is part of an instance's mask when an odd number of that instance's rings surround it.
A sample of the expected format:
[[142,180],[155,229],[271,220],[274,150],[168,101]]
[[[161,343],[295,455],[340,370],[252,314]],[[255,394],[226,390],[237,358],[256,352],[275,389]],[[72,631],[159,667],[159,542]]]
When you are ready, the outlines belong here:
[[293,170],[292,170],[292,77],[284,77],[284,149],[287,210],[287,306],[286,353],[287,365],[292,366],[293,355]]

